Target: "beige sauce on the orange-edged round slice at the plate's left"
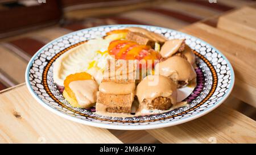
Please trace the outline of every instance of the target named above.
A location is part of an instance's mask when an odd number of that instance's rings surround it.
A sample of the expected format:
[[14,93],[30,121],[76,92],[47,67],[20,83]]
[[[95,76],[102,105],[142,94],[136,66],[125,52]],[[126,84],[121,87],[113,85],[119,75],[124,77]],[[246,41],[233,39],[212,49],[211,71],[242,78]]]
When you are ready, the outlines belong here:
[[86,106],[96,102],[96,94],[98,91],[98,83],[92,79],[72,81],[69,87],[76,96],[80,106]]

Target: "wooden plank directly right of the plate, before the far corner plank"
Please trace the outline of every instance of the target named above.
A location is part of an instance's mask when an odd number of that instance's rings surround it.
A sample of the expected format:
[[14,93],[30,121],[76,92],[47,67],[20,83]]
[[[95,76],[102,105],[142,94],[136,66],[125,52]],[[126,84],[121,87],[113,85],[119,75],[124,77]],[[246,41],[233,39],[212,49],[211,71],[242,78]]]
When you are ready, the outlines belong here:
[[233,95],[256,107],[256,43],[202,23],[192,24],[182,31],[207,41],[224,53],[236,76]]

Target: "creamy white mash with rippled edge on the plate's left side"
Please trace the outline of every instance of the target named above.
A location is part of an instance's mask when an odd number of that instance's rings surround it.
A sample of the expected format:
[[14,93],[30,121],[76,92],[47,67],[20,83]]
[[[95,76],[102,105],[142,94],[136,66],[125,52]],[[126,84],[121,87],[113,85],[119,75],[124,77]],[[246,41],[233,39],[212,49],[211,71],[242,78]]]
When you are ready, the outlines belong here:
[[[59,86],[64,86],[64,79],[74,73],[90,72],[100,83],[106,59],[110,58],[110,41],[101,38],[89,40],[61,55],[53,66],[53,79]],[[101,72],[101,73],[100,73]]]

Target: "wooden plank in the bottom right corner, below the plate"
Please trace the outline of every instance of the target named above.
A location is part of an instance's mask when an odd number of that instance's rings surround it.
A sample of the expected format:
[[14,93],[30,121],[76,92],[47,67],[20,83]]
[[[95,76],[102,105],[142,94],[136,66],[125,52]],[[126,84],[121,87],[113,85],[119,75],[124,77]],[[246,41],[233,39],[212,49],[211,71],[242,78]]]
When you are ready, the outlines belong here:
[[147,132],[162,143],[256,143],[256,122],[223,104],[191,122]]

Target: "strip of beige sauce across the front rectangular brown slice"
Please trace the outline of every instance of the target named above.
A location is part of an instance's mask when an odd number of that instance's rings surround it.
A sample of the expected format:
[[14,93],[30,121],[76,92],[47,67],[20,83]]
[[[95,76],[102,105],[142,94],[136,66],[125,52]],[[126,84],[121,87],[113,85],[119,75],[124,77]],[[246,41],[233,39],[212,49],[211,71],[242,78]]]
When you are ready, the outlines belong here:
[[135,90],[135,83],[101,82],[99,90],[105,94],[130,94]]

